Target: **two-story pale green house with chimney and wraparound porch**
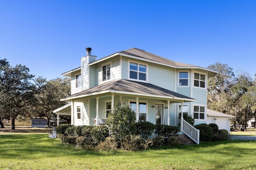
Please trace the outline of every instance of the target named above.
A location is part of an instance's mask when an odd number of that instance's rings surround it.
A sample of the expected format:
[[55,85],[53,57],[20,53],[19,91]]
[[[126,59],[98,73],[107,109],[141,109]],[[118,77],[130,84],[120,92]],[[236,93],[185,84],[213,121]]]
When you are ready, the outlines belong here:
[[178,63],[132,48],[96,60],[86,48],[81,66],[62,74],[71,77],[70,102],[54,111],[71,115],[72,125],[96,125],[108,117],[116,102],[130,104],[137,121],[186,128],[180,113],[195,124],[206,123],[207,78],[218,72]]

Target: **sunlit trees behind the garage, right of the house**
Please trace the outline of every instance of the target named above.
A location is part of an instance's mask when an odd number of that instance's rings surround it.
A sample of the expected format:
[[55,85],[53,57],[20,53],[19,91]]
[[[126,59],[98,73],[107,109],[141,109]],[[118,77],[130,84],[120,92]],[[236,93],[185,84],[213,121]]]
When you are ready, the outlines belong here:
[[233,68],[220,62],[208,68],[219,73],[208,79],[207,107],[235,116],[234,127],[238,124],[246,129],[247,122],[256,117],[256,74],[254,78],[248,72],[234,74]]

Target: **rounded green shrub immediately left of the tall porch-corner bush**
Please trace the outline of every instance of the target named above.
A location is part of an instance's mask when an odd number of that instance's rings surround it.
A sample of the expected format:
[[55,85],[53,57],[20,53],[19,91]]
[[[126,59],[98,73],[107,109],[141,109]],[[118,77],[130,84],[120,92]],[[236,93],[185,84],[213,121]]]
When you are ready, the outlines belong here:
[[93,144],[98,145],[105,141],[106,137],[109,136],[108,127],[105,125],[94,126],[90,131],[90,135],[92,137]]

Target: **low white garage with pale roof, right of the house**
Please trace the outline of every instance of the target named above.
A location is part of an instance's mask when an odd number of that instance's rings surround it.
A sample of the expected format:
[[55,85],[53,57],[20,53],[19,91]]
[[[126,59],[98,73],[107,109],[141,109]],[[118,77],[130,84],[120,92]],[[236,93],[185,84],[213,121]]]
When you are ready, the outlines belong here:
[[228,133],[230,133],[230,120],[232,118],[234,116],[207,109],[207,124],[215,123],[219,129],[226,129]]

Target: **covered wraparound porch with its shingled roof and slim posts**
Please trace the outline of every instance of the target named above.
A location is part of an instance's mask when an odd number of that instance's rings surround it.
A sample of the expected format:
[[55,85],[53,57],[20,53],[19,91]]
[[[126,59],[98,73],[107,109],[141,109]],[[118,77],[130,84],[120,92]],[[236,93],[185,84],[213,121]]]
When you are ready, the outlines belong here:
[[[71,124],[76,124],[76,106],[82,103],[81,112],[86,112],[87,119],[106,119],[116,102],[130,104],[136,112],[137,121],[150,121],[154,124],[174,124],[174,103],[193,102],[192,98],[144,82],[115,80],[95,86],[61,99],[70,102],[65,108],[70,109]],[[56,109],[58,110],[58,109]],[[59,109],[58,113],[65,111]],[[82,115],[81,115],[82,116]],[[85,117],[82,117],[84,119]],[[156,120],[158,118],[158,120]],[[88,125],[91,125],[88,121]]]

